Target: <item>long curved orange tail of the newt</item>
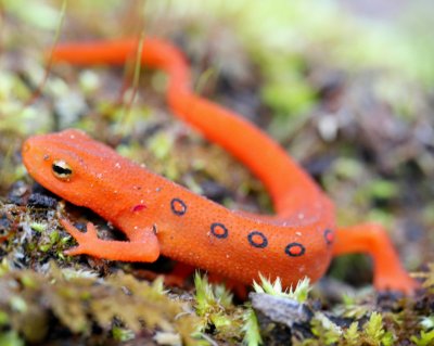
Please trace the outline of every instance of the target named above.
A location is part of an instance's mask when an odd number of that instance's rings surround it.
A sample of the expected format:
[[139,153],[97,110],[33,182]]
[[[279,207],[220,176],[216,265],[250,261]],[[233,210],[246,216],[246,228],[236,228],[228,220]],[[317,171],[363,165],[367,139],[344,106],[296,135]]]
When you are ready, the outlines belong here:
[[[138,43],[131,39],[61,44],[53,59],[79,65],[119,65],[133,57]],[[169,75],[167,101],[174,113],[244,163],[267,188],[278,216],[306,210],[306,203],[321,194],[311,178],[267,134],[237,113],[193,92],[189,65],[175,46],[145,39],[141,63]]]

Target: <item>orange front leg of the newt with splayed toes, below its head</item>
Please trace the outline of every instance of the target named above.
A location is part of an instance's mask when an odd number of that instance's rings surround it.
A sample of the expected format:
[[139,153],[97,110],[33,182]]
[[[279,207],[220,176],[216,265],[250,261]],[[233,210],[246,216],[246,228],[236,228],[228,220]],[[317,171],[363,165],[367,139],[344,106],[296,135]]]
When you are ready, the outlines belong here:
[[153,262],[159,256],[158,240],[152,228],[143,229],[130,241],[107,241],[98,238],[93,223],[88,222],[87,232],[80,232],[66,219],[61,220],[65,230],[78,242],[78,246],[66,251],[67,255],[90,255],[98,258],[122,261]]

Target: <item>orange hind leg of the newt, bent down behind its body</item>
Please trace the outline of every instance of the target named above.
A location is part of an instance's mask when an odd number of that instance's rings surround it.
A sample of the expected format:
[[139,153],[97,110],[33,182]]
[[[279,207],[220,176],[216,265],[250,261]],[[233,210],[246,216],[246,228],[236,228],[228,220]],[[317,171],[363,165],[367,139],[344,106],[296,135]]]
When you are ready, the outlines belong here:
[[373,284],[376,290],[394,290],[410,294],[418,286],[399,262],[385,229],[363,223],[336,230],[333,256],[365,253],[373,259]]

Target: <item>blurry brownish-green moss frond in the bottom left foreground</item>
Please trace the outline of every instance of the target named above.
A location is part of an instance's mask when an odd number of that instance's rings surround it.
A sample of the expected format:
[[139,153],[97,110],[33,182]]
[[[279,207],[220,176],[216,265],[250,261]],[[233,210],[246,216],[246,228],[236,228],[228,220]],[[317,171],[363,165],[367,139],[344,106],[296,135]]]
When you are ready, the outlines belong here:
[[52,313],[58,330],[74,334],[88,335],[98,325],[104,331],[103,339],[127,339],[146,326],[177,333],[186,345],[194,344],[197,319],[186,312],[188,304],[162,293],[159,283],[152,285],[120,272],[102,280],[64,271],[51,262],[46,275],[30,270],[3,273],[0,309],[8,316],[3,326],[26,341],[40,342]]

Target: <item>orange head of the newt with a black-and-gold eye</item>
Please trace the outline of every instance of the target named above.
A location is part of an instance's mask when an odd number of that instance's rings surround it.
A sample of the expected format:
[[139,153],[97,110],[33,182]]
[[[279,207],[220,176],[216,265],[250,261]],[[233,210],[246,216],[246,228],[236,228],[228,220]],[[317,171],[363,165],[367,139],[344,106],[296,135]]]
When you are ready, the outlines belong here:
[[42,187],[76,204],[88,206],[104,193],[106,171],[102,159],[114,151],[75,129],[34,136],[22,148],[27,171]]

